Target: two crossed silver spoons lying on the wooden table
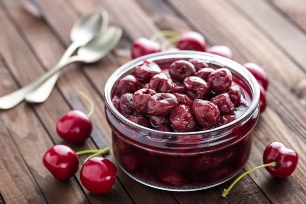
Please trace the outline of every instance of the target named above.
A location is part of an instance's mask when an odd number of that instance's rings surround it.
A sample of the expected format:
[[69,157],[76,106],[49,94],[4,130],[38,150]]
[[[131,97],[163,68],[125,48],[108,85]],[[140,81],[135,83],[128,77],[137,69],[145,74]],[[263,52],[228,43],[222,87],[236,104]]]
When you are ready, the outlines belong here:
[[[58,64],[23,88],[0,97],[0,109],[12,108],[23,100],[44,102],[49,97],[62,68],[74,62],[99,61],[114,49],[121,35],[121,28],[108,27],[108,14],[105,10],[95,10],[81,16],[71,30],[72,44]],[[72,56],[76,49],[77,54]]]

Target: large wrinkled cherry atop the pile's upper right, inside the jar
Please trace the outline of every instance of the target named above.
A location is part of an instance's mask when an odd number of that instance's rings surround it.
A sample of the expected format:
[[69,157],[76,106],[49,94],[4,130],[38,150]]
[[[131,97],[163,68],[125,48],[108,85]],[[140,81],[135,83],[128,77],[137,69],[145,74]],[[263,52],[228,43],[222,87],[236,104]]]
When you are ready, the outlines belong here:
[[227,68],[216,69],[208,76],[208,83],[216,93],[226,92],[231,86],[231,81],[232,75]]

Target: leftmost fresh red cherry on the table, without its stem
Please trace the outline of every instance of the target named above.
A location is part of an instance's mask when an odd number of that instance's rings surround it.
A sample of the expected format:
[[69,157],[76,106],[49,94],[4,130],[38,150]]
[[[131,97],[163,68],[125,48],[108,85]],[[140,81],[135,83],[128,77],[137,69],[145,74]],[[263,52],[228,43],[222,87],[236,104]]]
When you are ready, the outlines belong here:
[[78,157],[69,146],[59,144],[46,151],[43,165],[57,180],[68,180],[78,169]]

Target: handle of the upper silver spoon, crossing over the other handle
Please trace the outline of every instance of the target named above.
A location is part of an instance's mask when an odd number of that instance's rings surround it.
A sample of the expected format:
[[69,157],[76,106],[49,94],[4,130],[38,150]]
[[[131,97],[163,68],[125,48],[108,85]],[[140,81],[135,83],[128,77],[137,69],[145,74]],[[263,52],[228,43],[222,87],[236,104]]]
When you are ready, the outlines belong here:
[[61,68],[65,66],[80,61],[80,58],[77,56],[70,57],[65,64],[57,65],[54,68],[51,68],[49,71],[44,73],[40,78],[35,81],[29,83],[28,85],[8,94],[0,97],[0,109],[10,109],[16,106],[18,103],[22,102],[26,95],[30,93],[32,90],[36,89],[43,82],[45,82],[50,76],[58,72]]

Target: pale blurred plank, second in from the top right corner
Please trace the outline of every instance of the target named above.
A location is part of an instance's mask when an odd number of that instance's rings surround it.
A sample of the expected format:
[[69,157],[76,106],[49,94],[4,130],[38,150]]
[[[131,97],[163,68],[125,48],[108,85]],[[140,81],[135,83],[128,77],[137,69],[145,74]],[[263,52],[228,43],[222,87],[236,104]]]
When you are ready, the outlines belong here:
[[264,0],[233,0],[233,2],[306,71],[305,32]]

